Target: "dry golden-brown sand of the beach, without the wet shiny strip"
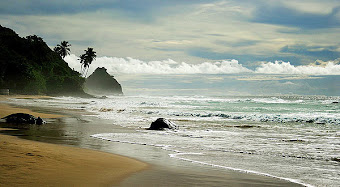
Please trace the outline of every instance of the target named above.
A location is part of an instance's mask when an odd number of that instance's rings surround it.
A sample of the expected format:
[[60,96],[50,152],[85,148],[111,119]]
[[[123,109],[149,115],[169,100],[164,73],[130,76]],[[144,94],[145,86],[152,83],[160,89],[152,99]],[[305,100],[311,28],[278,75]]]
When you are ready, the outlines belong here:
[[[37,97],[40,96],[29,98]],[[1,96],[2,101],[6,98]],[[62,117],[0,103],[0,117],[18,112],[42,118]],[[0,186],[112,186],[148,167],[146,163],[119,155],[8,135],[0,135],[0,150]]]

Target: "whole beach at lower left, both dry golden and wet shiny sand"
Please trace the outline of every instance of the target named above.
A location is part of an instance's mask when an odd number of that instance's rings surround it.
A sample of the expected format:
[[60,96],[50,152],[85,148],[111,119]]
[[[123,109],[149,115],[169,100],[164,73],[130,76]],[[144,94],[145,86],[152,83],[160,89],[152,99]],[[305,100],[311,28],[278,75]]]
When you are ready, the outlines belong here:
[[96,140],[90,135],[126,129],[79,115],[82,111],[28,108],[20,101],[7,104],[7,98],[0,96],[0,117],[25,112],[48,123],[18,130],[0,128],[7,134],[0,136],[0,186],[300,186],[170,159],[167,152],[149,147]]

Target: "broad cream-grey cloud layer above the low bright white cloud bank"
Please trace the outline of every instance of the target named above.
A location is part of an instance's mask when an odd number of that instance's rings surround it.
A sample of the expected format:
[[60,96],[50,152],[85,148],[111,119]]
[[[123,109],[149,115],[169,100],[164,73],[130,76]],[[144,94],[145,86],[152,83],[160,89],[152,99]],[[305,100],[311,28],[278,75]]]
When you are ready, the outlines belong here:
[[[301,20],[304,13],[309,18],[312,18],[311,15],[323,18],[329,15],[335,20],[337,15],[339,19],[340,14],[335,7],[340,3],[313,0],[313,11],[309,11],[311,0],[294,0],[301,2],[298,5],[292,2],[3,0],[0,1],[0,22],[21,36],[37,34],[43,37],[51,48],[60,41],[69,41],[72,53],[76,55],[83,53],[87,47],[93,47],[98,56],[129,56],[145,62],[172,59],[186,63],[237,59],[239,64],[251,69],[258,66],[255,64],[258,61],[282,60],[299,65],[317,59],[328,61],[339,58],[339,29],[316,32],[292,26],[298,23],[281,24],[279,19],[294,21],[294,16],[299,16],[296,19]],[[308,6],[301,9],[304,3]],[[275,10],[280,6],[294,14],[280,14],[274,16],[275,23],[261,24],[260,17],[263,15],[259,15],[258,11],[267,12],[269,8],[274,7]],[[331,14],[332,11],[337,14]],[[275,11],[269,13],[274,14]],[[297,30],[299,35],[293,32]],[[324,51],[313,51],[315,49],[308,46],[335,46],[337,49],[325,47]]]

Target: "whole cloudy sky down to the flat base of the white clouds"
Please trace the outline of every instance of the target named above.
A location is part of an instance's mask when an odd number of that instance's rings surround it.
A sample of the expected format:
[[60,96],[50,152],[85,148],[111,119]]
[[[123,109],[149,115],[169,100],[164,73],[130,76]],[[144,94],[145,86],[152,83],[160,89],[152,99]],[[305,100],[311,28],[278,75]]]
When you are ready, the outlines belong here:
[[89,73],[340,75],[339,0],[1,0],[0,24],[76,70],[93,47]]

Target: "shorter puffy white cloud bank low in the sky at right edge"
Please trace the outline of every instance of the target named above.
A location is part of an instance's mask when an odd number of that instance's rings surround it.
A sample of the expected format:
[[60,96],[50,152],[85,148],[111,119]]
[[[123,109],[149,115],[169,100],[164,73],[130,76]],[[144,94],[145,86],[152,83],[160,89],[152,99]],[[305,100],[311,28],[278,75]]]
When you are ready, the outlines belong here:
[[340,75],[340,64],[328,62],[326,66],[294,66],[290,62],[275,61],[262,63],[255,73],[263,74],[304,74],[304,75]]

